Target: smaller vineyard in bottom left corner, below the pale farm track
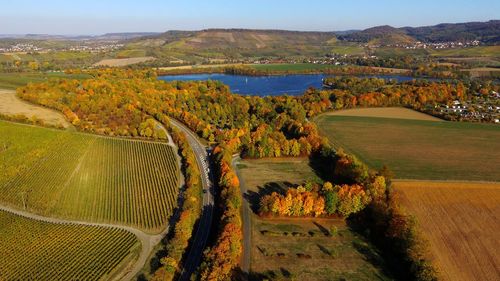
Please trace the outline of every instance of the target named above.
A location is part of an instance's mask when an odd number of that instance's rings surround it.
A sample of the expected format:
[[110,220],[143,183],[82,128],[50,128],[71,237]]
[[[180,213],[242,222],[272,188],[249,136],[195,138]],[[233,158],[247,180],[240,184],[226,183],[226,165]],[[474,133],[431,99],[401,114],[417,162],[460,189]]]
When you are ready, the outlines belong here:
[[0,211],[0,280],[109,280],[135,258],[125,230],[54,224]]

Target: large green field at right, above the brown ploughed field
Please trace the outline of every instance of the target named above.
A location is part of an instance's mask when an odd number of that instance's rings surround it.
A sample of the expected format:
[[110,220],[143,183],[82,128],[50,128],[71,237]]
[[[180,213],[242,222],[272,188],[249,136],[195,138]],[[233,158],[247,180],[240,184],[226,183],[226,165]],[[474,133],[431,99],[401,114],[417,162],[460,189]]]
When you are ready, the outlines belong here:
[[331,115],[316,123],[334,145],[396,178],[500,181],[498,125]]

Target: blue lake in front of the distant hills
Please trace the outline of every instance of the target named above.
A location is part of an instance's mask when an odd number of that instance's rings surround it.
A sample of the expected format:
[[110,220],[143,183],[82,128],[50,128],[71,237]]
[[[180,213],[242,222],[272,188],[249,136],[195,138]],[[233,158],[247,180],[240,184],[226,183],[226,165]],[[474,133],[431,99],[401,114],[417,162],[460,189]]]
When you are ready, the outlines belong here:
[[[246,76],[230,74],[183,74],[160,76],[165,81],[200,81],[219,80],[229,86],[233,93],[242,95],[279,96],[302,95],[310,87],[321,89],[323,78],[331,76],[325,74],[290,74],[277,76]],[[409,76],[398,75],[367,75],[360,77],[378,77],[395,79],[398,82],[415,79]]]

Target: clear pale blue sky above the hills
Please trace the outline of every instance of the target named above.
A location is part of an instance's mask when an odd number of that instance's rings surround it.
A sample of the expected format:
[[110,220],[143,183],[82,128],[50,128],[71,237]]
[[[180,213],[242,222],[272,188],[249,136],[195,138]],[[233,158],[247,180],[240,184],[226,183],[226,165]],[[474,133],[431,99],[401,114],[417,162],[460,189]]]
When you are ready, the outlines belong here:
[[0,0],[0,34],[339,31],[500,18],[500,0]]

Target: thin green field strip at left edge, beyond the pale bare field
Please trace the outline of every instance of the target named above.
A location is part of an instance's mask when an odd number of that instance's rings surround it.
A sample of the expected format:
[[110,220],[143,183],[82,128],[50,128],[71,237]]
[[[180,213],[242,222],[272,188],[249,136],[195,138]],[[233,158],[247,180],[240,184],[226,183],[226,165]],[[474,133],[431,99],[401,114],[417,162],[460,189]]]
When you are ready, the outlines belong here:
[[0,89],[16,89],[28,83],[44,82],[49,78],[86,79],[86,74],[65,74],[63,72],[0,73]]

